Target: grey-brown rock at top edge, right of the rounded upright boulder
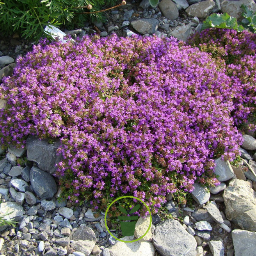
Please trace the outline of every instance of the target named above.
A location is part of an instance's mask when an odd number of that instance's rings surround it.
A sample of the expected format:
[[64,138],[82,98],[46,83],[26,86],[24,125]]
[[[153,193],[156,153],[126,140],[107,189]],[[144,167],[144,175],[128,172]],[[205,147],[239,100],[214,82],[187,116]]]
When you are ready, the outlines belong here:
[[186,12],[188,16],[197,17],[199,19],[205,19],[209,16],[210,12],[215,7],[215,2],[213,0],[206,0],[196,4],[190,5]]

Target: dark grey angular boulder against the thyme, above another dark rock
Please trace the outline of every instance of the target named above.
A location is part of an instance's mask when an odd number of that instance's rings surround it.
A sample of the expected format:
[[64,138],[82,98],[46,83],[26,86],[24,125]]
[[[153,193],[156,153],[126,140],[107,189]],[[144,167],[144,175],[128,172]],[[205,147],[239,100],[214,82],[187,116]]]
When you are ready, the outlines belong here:
[[36,162],[42,171],[50,174],[56,172],[55,165],[61,160],[61,156],[57,155],[57,149],[60,147],[59,140],[49,144],[46,139],[39,140],[34,136],[29,136],[26,146],[29,161]]

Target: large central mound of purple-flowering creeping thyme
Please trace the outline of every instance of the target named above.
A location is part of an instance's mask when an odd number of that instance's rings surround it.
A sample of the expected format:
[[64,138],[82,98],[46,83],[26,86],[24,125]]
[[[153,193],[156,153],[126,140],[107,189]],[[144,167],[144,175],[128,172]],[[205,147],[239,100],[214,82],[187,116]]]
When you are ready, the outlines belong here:
[[43,41],[4,79],[1,139],[60,137],[64,196],[106,210],[131,195],[155,213],[167,192],[216,184],[213,159],[238,154],[230,88],[208,53],[175,39]]

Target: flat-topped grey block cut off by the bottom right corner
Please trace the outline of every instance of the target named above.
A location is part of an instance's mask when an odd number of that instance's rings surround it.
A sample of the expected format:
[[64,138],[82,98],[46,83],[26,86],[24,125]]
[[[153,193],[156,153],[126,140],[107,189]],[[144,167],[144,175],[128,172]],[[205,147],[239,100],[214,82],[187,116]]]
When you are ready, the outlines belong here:
[[256,232],[234,229],[232,231],[235,256],[255,256]]

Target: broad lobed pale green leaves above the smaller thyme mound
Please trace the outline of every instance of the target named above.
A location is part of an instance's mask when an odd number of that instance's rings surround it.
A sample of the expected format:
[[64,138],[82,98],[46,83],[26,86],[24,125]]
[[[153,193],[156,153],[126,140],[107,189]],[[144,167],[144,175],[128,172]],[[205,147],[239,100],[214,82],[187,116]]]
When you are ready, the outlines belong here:
[[236,18],[229,16],[226,12],[223,14],[213,13],[203,22],[202,30],[215,27],[235,29],[238,32],[246,29],[256,33],[256,12],[251,11],[245,5],[242,5],[241,9],[243,10],[242,16],[244,17],[242,23],[237,21]]

